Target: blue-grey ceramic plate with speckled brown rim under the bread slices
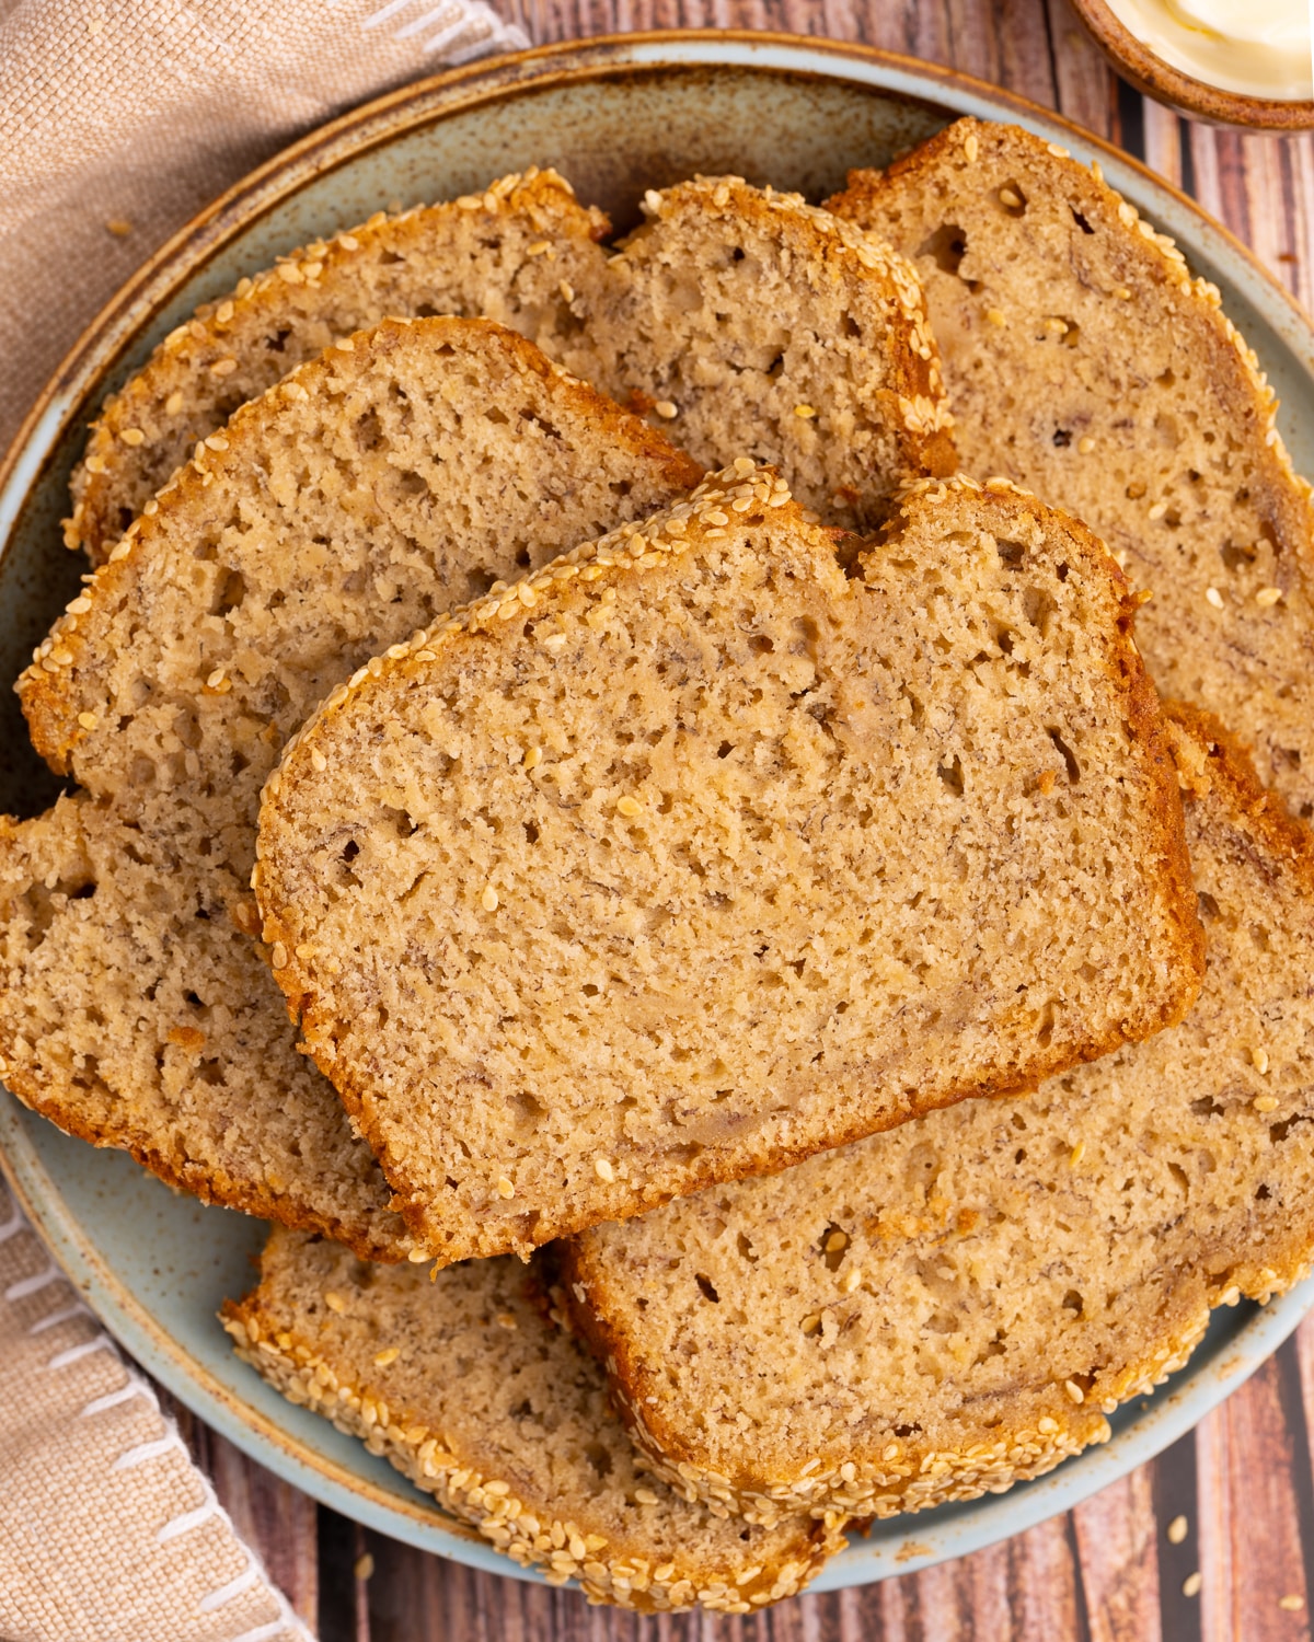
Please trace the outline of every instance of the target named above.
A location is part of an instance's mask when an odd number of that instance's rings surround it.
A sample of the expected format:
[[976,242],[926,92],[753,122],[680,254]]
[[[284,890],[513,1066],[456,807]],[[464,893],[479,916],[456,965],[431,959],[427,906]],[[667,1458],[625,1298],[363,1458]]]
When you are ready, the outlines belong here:
[[[992,87],[861,48],[779,34],[631,34],[498,59],[371,103],[246,179],[153,258],[77,343],[0,471],[0,677],[18,673],[82,570],[59,545],[59,517],[89,415],[197,302],[248,269],[379,207],[450,197],[535,163],[558,166],[621,225],[636,218],[644,187],[693,171],[734,171],[820,199],[849,166],[884,164],[963,113],[1018,120],[1081,159],[1099,158],[1109,181],[1222,287],[1281,394],[1298,466],[1314,470],[1309,323],[1225,230],[1125,156]],[[11,698],[3,701],[0,810],[31,813],[53,790]],[[225,1437],[370,1527],[532,1578],[233,1358],[215,1310],[250,1286],[256,1222],[174,1195],[122,1153],[69,1140],[5,1094],[0,1161],[90,1305]],[[879,1525],[815,1589],[961,1557],[1066,1511],[1189,1430],[1312,1304],[1314,1279],[1265,1310],[1217,1314],[1191,1365],[1115,1415],[1109,1445],[1008,1494]]]

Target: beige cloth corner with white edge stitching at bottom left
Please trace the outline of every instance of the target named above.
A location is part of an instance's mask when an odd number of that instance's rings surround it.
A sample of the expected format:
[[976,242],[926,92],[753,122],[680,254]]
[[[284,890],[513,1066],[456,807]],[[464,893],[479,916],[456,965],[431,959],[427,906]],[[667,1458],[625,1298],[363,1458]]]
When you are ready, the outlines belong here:
[[0,1637],[310,1642],[3,1184]]

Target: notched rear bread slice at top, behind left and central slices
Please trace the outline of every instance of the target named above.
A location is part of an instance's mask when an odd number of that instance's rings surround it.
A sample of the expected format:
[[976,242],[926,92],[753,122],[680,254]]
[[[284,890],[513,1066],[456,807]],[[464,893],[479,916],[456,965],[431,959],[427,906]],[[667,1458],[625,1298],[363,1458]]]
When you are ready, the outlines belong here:
[[839,524],[872,525],[900,483],[953,471],[910,263],[739,177],[649,190],[644,212],[609,250],[606,217],[531,169],[279,258],[197,309],[105,402],[72,478],[69,547],[103,560],[197,440],[386,315],[498,320],[647,412],[705,468],[751,452]]

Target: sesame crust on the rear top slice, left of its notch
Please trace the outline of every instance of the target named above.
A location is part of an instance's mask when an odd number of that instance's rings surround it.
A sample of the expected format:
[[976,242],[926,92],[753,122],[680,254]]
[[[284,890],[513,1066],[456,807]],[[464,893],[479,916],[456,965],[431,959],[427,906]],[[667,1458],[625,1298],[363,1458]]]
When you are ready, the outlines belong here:
[[[174,420],[168,412],[169,396],[186,389],[189,381],[204,373],[218,374],[225,369],[230,361],[232,332],[240,332],[250,323],[276,328],[284,319],[291,323],[294,312],[289,294],[294,289],[309,286],[324,292],[327,299],[340,276],[350,277],[353,269],[379,248],[404,258],[407,251],[427,246],[435,222],[468,212],[483,212],[489,217],[526,213],[540,222],[544,232],[586,235],[595,241],[603,240],[611,227],[603,212],[580,207],[570,184],[555,171],[531,167],[522,176],[501,177],[478,195],[416,207],[397,217],[376,212],[358,228],[343,230],[332,240],[315,240],[279,256],[273,268],[241,279],[227,296],[197,307],[194,317],[169,332],[141,369],[100,407],[84,458],[69,481],[74,511],[72,517],[64,521],[66,547],[82,547],[92,563],[103,563],[126,529],[123,514],[133,512],[130,496],[135,488],[135,470],[140,465],[140,424]],[[179,409],[176,420],[191,425],[189,412],[191,407]],[[222,417],[218,420],[222,422]],[[207,433],[215,425],[217,422],[209,419],[205,427],[195,432]]]

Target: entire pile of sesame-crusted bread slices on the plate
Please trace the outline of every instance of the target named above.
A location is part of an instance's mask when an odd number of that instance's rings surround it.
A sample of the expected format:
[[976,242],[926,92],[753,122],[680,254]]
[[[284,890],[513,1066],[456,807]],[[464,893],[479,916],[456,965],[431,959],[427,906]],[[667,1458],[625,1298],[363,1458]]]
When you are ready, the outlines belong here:
[[225,1327],[292,1401],[749,1612],[1314,1254],[1309,491],[1027,133],[644,217],[379,215],[107,404],[0,1071],[283,1222]]

